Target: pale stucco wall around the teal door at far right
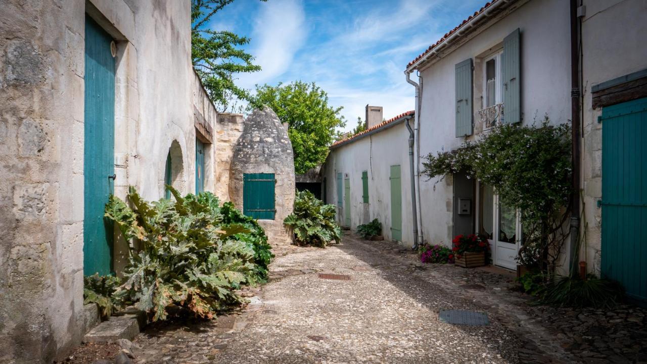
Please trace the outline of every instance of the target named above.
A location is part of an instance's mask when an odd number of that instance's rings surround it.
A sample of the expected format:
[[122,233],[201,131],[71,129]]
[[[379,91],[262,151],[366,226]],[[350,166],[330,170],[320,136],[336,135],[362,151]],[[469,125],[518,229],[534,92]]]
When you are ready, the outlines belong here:
[[[602,108],[593,109],[591,87],[647,69],[647,2],[642,0],[584,0],[582,19],[582,179],[587,268],[600,272],[602,198],[602,131],[597,122]],[[585,225],[586,224],[586,225]]]

